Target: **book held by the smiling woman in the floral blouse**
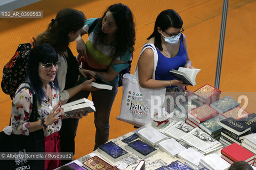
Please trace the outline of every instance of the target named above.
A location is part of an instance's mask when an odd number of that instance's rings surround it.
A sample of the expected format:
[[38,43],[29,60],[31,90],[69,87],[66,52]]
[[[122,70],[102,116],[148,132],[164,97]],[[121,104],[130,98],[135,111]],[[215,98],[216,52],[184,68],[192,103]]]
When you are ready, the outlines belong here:
[[68,107],[66,107],[65,105],[62,105],[61,107],[64,109],[65,113],[70,117],[76,116],[77,112],[82,112],[83,114],[85,114],[86,112],[88,113],[95,112],[95,107],[89,102],[72,105]]

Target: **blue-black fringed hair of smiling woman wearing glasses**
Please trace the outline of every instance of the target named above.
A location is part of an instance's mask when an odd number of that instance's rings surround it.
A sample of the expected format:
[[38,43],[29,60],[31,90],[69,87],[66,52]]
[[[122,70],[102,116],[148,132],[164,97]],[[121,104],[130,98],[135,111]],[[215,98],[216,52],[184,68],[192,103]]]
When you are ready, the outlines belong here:
[[[58,61],[58,55],[55,50],[47,44],[35,46],[28,58],[28,71],[27,71],[27,81],[30,84],[31,89],[35,92],[39,105],[42,103],[42,99],[45,97],[45,92],[42,89],[43,82],[39,78],[38,67],[39,62],[46,63],[56,63]],[[53,83],[49,83],[50,86],[59,89],[57,76],[53,80]]]

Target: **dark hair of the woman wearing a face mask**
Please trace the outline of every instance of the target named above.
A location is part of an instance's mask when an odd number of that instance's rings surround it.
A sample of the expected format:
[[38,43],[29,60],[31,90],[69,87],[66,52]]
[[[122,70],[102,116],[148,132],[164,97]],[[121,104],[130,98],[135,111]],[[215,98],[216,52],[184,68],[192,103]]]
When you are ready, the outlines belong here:
[[157,31],[157,27],[165,31],[170,27],[181,28],[182,25],[183,25],[183,21],[177,12],[175,12],[174,10],[162,11],[156,18],[153,33],[147,39],[155,37],[154,45],[156,46],[156,48],[162,51],[163,47],[161,42],[161,33]]

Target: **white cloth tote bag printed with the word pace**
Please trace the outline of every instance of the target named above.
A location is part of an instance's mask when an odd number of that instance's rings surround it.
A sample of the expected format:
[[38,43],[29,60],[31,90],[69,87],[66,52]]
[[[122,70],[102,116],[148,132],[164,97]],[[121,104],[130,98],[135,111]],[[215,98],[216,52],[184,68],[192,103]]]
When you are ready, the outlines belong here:
[[[145,47],[146,45],[150,46]],[[157,51],[154,44],[145,44],[145,46],[143,46],[140,55],[146,48],[151,48],[153,50],[154,72],[152,78],[155,79],[155,71],[158,61]],[[139,127],[152,122],[154,111],[151,111],[151,109],[157,106],[163,106],[165,91],[166,88],[146,89],[140,87],[137,62],[134,75],[124,74],[123,76],[121,112],[116,118]],[[157,101],[157,106],[154,104],[155,106],[153,107],[151,101],[154,101],[155,103]]]

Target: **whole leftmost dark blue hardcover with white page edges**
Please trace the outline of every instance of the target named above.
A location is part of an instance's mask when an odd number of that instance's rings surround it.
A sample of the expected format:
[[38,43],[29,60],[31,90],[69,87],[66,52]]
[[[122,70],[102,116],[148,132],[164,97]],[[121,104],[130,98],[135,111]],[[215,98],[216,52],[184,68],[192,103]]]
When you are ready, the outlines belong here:
[[103,155],[109,158],[112,162],[117,162],[124,157],[126,157],[128,152],[126,152],[121,147],[117,146],[114,142],[110,141],[101,146],[99,146],[98,151]]

